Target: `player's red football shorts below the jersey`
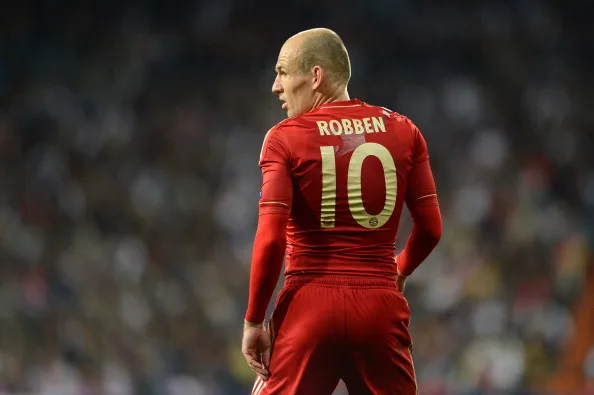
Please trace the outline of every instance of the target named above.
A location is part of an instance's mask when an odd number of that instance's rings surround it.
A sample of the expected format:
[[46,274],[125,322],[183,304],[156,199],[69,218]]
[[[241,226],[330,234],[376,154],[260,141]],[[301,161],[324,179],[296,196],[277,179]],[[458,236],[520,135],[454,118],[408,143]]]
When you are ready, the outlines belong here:
[[387,279],[292,276],[269,330],[270,379],[254,395],[415,395],[408,303]]

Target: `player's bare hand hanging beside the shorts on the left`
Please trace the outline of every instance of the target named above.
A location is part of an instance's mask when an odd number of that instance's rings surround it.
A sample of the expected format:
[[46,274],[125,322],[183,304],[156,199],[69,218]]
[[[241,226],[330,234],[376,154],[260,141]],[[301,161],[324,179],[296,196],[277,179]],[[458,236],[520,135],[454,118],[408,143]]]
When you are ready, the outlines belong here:
[[270,376],[268,367],[271,346],[270,335],[263,324],[255,325],[247,321],[244,323],[241,352],[250,368],[264,381]]

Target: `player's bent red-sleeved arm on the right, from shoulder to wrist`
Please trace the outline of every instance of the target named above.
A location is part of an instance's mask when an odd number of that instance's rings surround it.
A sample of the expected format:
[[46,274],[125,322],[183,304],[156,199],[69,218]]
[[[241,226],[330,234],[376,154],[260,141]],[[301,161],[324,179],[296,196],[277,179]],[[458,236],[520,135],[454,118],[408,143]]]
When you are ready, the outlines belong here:
[[408,178],[406,205],[413,230],[396,258],[399,276],[409,276],[429,256],[441,238],[442,222],[435,180],[429,164],[427,143],[411,123],[414,138],[413,167]]

